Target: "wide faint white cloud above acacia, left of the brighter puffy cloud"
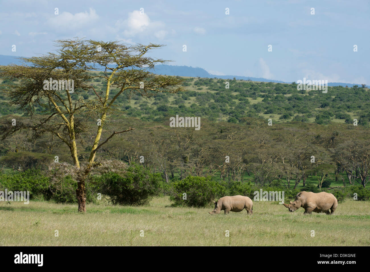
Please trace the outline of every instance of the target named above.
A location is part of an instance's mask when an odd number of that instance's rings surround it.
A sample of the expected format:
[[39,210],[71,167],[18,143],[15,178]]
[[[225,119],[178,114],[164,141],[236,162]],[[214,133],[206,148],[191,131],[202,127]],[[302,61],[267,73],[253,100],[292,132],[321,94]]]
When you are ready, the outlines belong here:
[[90,8],[89,11],[79,13],[69,13],[64,11],[60,15],[53,15],[47,23],[53,27],[80,28],[86,24],[92,23],[99,18],[95,10]]

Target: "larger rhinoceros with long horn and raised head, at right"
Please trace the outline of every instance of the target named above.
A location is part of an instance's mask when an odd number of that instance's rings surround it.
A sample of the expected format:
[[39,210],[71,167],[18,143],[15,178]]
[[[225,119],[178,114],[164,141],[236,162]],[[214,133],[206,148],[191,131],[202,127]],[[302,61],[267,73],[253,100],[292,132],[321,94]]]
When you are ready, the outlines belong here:
[[[338,206],[338,201],[333,194],[327,192],[313,193],[302,191],[296,195],[295,201],[290,201],[289,205],[283,204],[290,212],[294,212],[299,207],[303,207],[305,209],[304,214],[311,214],[312,212],[333,214]],[[329,209],[331,212],[329,212]]]

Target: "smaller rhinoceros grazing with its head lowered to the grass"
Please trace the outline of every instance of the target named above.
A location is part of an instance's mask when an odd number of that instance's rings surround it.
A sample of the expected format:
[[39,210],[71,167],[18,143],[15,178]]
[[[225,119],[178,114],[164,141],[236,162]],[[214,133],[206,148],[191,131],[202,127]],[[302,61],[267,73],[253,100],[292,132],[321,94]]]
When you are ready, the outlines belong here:
[[243,197],[242,195],[234,195],[233,197],[222,197],[215,203],[215,209],[210,214],[219,214],[221,210],[228,214],[229,211],[241,212],[246,209],[248,214],[253,214],[253,202],[249,197]]

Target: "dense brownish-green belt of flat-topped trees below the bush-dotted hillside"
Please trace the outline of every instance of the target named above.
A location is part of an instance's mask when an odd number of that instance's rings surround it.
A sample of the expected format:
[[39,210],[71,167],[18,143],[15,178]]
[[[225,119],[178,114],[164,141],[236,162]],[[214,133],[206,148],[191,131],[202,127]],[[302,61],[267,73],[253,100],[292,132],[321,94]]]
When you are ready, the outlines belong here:
[[[31,121],[14,115],[3,118]],[[202,128],[195,130],[169,127],[169,120],[145,122],[119,115],[112,120],[103,135],[128,125],[135,130],[109,140],[98,151],[100,157],[128,164],[141,162],[152,172],[161,172],[167,182],[189,175],[213,175],[227,182],[252,181],[294,189],[306,186],[307,179],[319,188],[329,187],[328,181],[333,180],[341,186],[366,187],[369,180],[369,130],[353,124],[292,122],[269,126],[267,120],[248,117],[239,124],[201,118]],[[95,122],[85,120],[88,124],[92,129]],[[87,135],[82,134],[78,142],[80,150],[85,150],[78,154],[82,161],[88,159],[93,141]],[[26,132],[18,133],[1,143],[0,162],[20,171],[42,169],[55,156],[59,162],[70,162],[68,151],[50,136],[33,141]]]

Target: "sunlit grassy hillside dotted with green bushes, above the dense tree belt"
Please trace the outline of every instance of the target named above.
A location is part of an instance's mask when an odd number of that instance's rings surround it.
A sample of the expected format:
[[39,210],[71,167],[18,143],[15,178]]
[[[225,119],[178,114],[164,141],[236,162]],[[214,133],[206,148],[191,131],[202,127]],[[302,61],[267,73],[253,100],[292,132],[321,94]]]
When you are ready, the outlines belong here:
[[[103,72],[100,72],[103,73]],[[96,73],[95,73],[96,74]],[[268,120],[274,123],[307,122],[317,124],[346,123],[353,128],[354,119],[359,126],[370,127],[370,89],[362,87],[328,87],[327,94],[315,90],[297,90],[296,84],[229,81],[218,78],[184,78],[186,91],[178,94],[158,93],[154,98],[144,99],[132,94],[131,99],[120,95],[116,100],[122,114],[145,121],[165,122],[171,116],[197,116],[209,121],[243,123],[246,117]],[[95,90],[104,93],[106,80],[90,79]],[[5,90],[8,79],[0,79],[0,117],[8,114],[24,114],[19,107],[9,105]],[[110,90],[111,95],[118,89]],[[71,95],[74,101],[95,100],[95,94],[76,91]],[[46,101],[44,101],[46,103]],[[35,108],[36,114],[44,114],[42,106]]]

